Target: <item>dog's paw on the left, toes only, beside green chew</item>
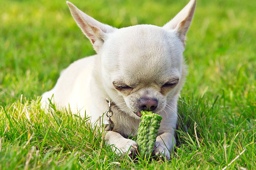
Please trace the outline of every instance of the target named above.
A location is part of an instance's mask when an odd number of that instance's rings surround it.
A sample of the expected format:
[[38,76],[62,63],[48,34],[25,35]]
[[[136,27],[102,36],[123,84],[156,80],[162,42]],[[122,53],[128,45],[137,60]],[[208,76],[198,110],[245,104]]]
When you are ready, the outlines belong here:
[[128,154],[134,157],[137,153],[138,145],[131,139],[122,139],[118,144],[115,145],[114,151],[116,153],[122,153],[122,155]]

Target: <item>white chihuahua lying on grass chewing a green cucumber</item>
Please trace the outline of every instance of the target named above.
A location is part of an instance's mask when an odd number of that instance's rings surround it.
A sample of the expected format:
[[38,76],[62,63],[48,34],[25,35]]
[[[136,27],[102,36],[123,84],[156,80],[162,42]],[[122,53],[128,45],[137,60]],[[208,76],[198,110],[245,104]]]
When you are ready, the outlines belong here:
[[[55,87],[42,96],[43,107],[53,101],[70,107],[96,122],[112,103],[113,131],[105,135],[116,152],[133,153],[140,111],[163,117],[153,154],[170,158],[175,145],[177,99],[186,78],[183,60],[186,32],[196,0],[190,2],[163,27],[137,25],[113,28],[84,14],[67,2],[71,14],[91,41],[96,55],[79,59],[62,71]],[[49,98],[49,99],[48,99]],[[84,115],[83,115],[84,116]],[[107,119],[107,116],[104,116]]]

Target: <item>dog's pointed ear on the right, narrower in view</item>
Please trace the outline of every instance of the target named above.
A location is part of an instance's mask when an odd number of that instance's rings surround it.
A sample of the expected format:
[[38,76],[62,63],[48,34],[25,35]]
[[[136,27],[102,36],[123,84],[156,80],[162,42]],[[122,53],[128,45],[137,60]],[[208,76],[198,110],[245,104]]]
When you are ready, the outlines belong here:
[[163,26],[166,30],[175,30],[181,42],[185,46],[186,32],[189,29],[195,12],[196,0],[190,0],[189,3],[166,25]]

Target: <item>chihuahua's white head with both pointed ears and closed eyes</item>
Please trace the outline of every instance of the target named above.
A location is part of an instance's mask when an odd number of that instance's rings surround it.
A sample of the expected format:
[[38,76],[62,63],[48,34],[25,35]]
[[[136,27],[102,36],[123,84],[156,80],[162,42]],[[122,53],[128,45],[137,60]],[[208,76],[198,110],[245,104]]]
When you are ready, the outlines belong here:
[[177,97],[186,76],[183,51],[195,3],[191,0],[163,27],[117,29],[67,2],[76,23],[101,57],[105,92],[122,111],[140,119],[141,110],[157,113]]

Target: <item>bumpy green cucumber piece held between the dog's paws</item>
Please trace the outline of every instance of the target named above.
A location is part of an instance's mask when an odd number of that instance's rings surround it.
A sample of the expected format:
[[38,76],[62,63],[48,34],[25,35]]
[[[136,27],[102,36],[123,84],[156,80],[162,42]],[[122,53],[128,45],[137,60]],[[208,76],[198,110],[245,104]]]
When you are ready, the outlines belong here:
[[141,158],[148,159],[155,146],[162,116],[152,111],[141,111],[141,115],[136,142]]

